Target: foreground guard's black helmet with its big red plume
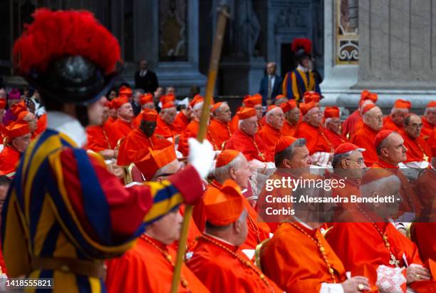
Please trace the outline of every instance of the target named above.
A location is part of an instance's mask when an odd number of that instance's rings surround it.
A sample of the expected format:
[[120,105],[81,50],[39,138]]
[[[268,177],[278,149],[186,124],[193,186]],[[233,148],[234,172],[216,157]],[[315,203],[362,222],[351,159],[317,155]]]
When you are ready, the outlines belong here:
[[[120,45],[89,11],[38,9],[14,43],[14,64],[43,102],[83,108],[112,87]],[[81,120],[81,122],[83,122]]]

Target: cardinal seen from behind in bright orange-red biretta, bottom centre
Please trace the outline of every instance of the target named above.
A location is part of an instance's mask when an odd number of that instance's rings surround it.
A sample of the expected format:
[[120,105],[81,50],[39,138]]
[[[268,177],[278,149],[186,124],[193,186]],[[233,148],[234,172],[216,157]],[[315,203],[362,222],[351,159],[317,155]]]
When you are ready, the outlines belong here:
[[211,292],[281,292],[262,274],[239,245],[245,241],[246,210],[241,190],[227,180],[203,197],[206,231],[187,266]]

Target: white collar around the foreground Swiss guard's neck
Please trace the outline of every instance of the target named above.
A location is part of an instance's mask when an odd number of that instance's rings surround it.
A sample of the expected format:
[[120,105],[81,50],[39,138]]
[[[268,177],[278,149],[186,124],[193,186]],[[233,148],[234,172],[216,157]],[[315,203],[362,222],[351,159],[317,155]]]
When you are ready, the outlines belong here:
[[67,135],[79,148],[82,148],[86,143],[85,128],[76,118],[66,113],[48,111],[47,128]]

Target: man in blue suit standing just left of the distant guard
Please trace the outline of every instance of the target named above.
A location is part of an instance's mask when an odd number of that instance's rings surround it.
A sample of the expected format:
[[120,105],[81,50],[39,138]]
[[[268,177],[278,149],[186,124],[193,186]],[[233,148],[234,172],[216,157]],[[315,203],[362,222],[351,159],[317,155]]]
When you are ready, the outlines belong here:
[[276,63],[266,64],[266,76],[261,80],[259,93],[262,95],[262,105],[268,106],[274,102],[274,98],[281,94],[283,78],[276,75]]

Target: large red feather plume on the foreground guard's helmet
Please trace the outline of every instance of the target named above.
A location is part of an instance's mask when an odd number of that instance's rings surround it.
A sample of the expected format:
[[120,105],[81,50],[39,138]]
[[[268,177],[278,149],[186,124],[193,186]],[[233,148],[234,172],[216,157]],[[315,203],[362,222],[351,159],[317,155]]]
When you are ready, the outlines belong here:
[[82,56],[110,73],[120,60],[120,44],[89,11],[37,9],[32,24],[14,43],[16,66],[28,74],[46,70],[62,56]]

